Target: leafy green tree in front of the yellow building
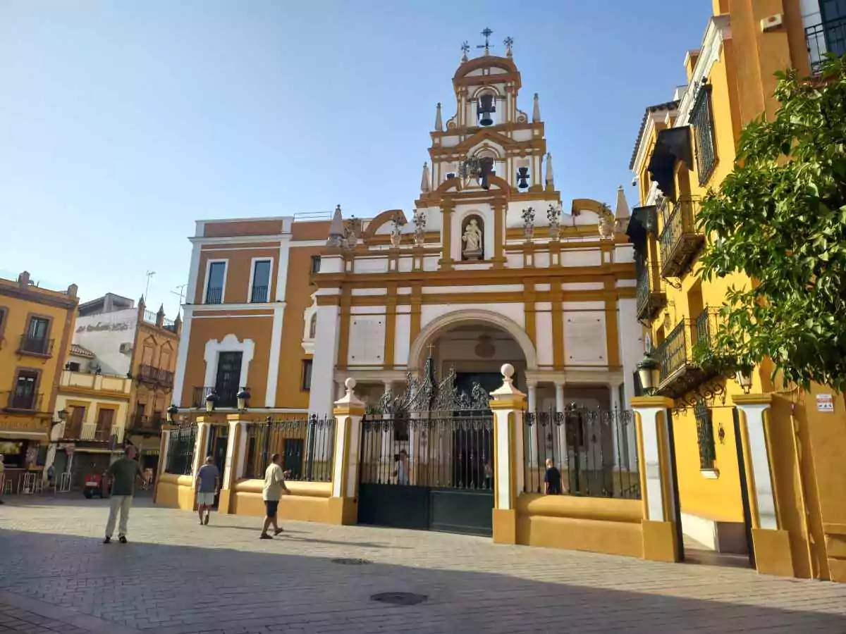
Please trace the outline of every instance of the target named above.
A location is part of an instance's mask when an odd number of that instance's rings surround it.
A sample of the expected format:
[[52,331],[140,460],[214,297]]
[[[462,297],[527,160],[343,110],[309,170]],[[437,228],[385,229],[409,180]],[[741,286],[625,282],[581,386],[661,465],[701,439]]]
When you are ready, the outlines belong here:
[[785,380],[843,391],[846,56],[816,78],[777,78],[775,117],[744,128],[733,172],[698,216],[709,237],[703,278],[750,277],[729,287],[715,347],[734,369],[769,358]]

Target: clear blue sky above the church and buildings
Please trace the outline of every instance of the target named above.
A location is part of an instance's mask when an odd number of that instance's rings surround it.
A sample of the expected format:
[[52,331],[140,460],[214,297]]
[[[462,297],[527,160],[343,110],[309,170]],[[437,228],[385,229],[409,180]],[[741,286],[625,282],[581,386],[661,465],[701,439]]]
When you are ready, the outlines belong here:
[[710,0],[0,0],[0,270],[164,303],[193,221],[413,207],[460,45],[514,38],[556,185],[613,203]]

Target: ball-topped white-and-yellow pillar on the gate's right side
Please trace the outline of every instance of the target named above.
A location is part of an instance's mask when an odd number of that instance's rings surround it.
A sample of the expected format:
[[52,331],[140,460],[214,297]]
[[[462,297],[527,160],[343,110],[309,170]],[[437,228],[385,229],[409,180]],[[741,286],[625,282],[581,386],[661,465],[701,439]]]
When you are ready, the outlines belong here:
[[[493,541],[517,544],[517,495],[523,489],[523,410],[526,396],[514,386],[514,366],[502,368],[503,385],[491,392],[493,412]],[[519,461],[519,462],[518,462]]]

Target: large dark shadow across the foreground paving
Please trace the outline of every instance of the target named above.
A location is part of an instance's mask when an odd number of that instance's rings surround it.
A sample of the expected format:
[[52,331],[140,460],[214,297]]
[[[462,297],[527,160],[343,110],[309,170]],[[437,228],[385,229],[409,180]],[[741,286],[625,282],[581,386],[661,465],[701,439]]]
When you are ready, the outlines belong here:
[[[166,533],[166,525],[162,531]],[[263,552],[146,543],[106,546],[96,538],[0,530],[0,589],[161,634],[267,631],[261,629],[265,626],[307,632],[416,628],[503,634],[846,631],[842,593],[839,603],[832,598],[826,604],[841,615],[810,612],[801,609],[796,585],[770,579],[756,586],[762,577],[744,582],[746,598],[737,588],[725,588],[719,600],[708,600],[651,594],[650,588],[657,588],[655,577],[646,583],[633,578],[625,590],[591,587],[590,560],[585,560],[587,580],[580,585],[572,579],[540,582],[420,567],[413,553],[401,565],[380,563],[376,555],[370,565],[338,566],[328,557],[275,550],[284,544],[281,539],[256,544]],[[632,576],[631,568],[613,581],[624,584],[624,576]],[[593,579],[596,584],[613,581]],[[810,589],[819,582],[807,583]],[[708,584],[713,592],[711,579],[700,575],[689,587],[657,590],[695,593]],[[760,605],[779,598],[772,588],[783,588],[783,600],[793,601],[796,609]],[[427,599],[402,607],[371,600],[376,593],[397,592]]]

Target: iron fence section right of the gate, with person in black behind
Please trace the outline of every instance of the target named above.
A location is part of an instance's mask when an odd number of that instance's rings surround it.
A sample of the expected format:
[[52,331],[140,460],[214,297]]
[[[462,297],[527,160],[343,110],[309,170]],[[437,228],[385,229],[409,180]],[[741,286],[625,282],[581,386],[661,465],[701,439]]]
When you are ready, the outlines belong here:
[[[634,416],[629,410],[567,407],[526,413],[525,493],[546,493],[558,469],[563,494],[640,499]],[[557,492],[557,482],[550,482]]]

